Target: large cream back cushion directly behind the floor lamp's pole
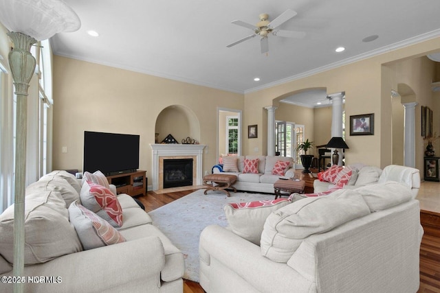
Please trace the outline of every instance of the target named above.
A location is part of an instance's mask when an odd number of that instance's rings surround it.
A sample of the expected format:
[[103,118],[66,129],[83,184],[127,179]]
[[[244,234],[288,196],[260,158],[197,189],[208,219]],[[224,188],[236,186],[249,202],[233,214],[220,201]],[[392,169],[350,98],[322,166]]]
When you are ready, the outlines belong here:
[[[14,204],[0,215],[0,255],[14,262]],[[25,197],[25,264],[43,263],[83,250],[59,191]]]

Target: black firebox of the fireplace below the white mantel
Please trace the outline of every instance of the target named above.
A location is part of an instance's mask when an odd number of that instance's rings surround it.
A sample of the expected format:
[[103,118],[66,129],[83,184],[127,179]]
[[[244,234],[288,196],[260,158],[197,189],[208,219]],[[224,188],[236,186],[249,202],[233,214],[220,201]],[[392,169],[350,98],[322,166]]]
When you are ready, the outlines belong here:
[[164,188],[192,185],[192,159],[164,159]]

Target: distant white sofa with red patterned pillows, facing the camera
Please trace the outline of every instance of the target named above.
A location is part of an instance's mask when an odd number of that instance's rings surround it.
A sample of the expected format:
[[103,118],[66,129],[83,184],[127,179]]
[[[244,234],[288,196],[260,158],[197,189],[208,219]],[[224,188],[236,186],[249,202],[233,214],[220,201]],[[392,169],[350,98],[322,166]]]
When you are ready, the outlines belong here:
[[[239,172],[223,172],[221,165],[212,167],[212,173],[233,174],[237,176],[234,186],[237,190],[256,191],[263,193],[274,193],[274,183],[281,175],[272,174],[277,161],[290,162],[289,169],[285,172],[285,177],[292,178],[295,170],[293,169],[294,159],[285,156],[235,156]],[[243,173],[244,159],[259,159],[259,174]]]

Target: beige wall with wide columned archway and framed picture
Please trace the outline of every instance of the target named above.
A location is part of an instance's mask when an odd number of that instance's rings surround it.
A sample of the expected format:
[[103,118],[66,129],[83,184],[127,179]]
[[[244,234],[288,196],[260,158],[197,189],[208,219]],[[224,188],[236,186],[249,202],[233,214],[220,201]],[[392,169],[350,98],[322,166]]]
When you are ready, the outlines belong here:
[[[287,95],[303,91],[305,89],[325,88],[327,93],[345,91],[345,110],[347,118],[350,115],[375,113],[374,135],[355,136],[347,135],[347,144],[350,149],[346,152],[346,162],[368,162],[371,165],[385,167],[392,163],[392,106],[391,89],[395,89],[395,77],[392,70],[384,69],[385,64],[400,62],[410,58],[425,55],[426,52],[440,48],[440,38],[434,38],[417,45],[397,49],[395,51],[375,56],[366,60],[351,63],[336,69],[317,73],[306,78],[300,78],[291,82],[285,82],[270,89],[263,89],[245,94],[245,124],[267,123],[266,106],[278,106],[278,100]],[[405,69],[412,71],[413,68]],[[426,82],[426,80],[424,81]],[[421,93],[423,94],[423,93]],[[425,93],[428,97],[431,95]],[[252,116],[250,115],[252,113]],[[420,128],[420,119],[416,116],[416,130]],[[252,153],[254,148],[261,148],[264,154],[267,147],[267,137],[262,135],[252,143],[245,141],[244,153]],[[417,145],[423,144],[420,136],[417,136]],[[419,150],[419,147],[417,150]],[[421,167],[420,152],[417,151],[416,167]]]

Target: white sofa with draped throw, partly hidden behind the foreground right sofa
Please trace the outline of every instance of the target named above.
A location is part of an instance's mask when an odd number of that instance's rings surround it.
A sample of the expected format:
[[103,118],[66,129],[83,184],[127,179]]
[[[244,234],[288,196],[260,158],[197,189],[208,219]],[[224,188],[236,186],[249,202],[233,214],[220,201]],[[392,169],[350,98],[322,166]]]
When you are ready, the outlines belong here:
[[[355,189],[366,185],[384,183],[386,181],[397,181],[411,187],[413,198],[417,196],[420,188],[419,169],[400,165],[388,165],[384,169],[364,165],[361,163],[349,166],[353,170],[351,180],[343,188]],[[335,188],[336,185],[327,181],[314,181],[314,193],[320,193]]]

